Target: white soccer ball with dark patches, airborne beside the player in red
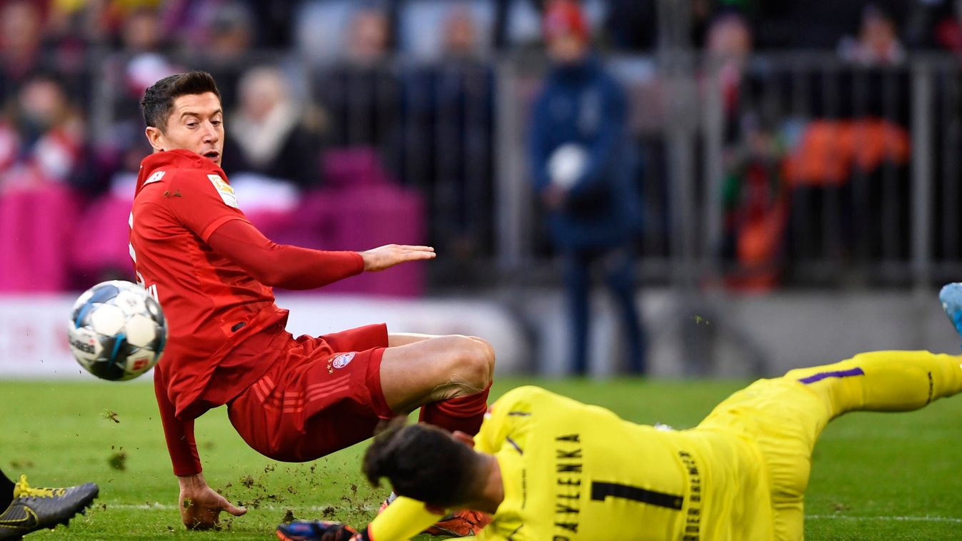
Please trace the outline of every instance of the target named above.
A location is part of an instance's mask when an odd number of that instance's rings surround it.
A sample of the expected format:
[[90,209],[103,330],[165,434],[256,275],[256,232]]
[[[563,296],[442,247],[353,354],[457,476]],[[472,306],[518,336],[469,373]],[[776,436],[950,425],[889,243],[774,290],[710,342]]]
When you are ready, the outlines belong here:
[[73,305],[70,352],[97,378],[137,378],[161,359],[167,324],[161,305],[136,283],[112,280],[90,287]]

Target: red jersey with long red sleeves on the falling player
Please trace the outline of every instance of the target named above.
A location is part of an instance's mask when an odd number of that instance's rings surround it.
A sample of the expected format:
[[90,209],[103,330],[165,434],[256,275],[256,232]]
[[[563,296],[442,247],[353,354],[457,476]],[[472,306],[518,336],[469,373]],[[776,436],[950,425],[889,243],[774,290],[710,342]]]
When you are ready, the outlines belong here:
[[258,381],[293,341],[269,286],[319,287],[362,272],[364,258],[270,242],[220,167],[186,150],[141,162],[130,227],[138,282],[167,320],[154,372],[167,450],[176,475],[199,473],[193,419]]

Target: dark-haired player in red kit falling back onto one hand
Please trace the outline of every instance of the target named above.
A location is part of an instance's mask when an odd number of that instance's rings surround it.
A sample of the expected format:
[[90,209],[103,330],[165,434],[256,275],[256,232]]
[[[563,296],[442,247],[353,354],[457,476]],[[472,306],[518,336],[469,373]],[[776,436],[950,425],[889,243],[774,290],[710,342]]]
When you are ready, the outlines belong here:
[[480,338],[387,332],[383,324],[293,337],[272,286],[311,289],[365,271],[434,258],[425,246],[323,252],[268,240],[244,216],[220,169],[223,111],[214,79],[172,75],[140,102],[154,153],[140,165],[130,217],[138,282],[169,327],[154,387],[188,528],[241,515],[204,480],[193,420],[216,406],[244,441],[277,460],[307,461],[367,439],[381,419],[476,433],[494,350]]

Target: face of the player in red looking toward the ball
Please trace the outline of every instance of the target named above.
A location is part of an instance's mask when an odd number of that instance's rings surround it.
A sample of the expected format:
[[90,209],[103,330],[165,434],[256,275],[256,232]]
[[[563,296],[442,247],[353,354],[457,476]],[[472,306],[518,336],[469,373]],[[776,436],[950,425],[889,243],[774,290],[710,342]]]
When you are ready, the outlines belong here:
[[220,165],[224,150],[220,100],[214,92],[178,96],[167,117],[166,130],[148,127],[147,138],[155,151],[190,150]]

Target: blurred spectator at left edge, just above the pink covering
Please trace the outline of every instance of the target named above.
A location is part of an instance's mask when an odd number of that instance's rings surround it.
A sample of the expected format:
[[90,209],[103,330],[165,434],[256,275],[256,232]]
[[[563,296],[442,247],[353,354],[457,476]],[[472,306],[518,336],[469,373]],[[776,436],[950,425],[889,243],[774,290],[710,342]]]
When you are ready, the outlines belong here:
[[82,183],[84,123],[63,86],[33,76],[0,125],[0,186]]

